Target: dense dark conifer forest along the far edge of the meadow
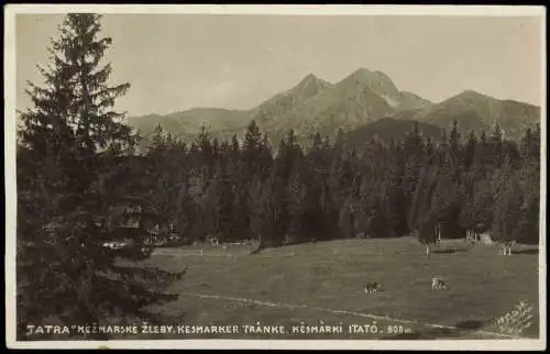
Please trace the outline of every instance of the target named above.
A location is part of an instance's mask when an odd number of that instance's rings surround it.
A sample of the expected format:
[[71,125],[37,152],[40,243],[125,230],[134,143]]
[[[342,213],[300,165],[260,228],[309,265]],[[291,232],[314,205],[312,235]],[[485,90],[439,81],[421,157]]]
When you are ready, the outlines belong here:
[[375,136],[360,152],[346,147],[342,132],[334,142],[315,134],[305,148],[289,130],[276,154],[254,121],[242,141],[221,142],[202,129],[185,143],[158,125],[146,166],[157,181],[148,210],[187,241],[539,237],[539,125],[516,143],[498,124],[461,136],[454,121],[437,141],[416,124],[403,141]]

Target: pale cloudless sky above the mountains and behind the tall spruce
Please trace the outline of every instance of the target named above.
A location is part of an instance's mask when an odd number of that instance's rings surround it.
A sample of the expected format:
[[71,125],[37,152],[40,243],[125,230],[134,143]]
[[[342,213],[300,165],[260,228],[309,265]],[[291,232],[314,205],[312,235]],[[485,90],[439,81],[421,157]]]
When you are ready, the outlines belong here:
[[[59,14],[18,14],[18,109],[42,84]],[[536,16],[105,14],[112,84],[130,115],[251,109],[308,74],[338,82],[360,67],[439,102],[463,90],[541,104],[543,22]]]

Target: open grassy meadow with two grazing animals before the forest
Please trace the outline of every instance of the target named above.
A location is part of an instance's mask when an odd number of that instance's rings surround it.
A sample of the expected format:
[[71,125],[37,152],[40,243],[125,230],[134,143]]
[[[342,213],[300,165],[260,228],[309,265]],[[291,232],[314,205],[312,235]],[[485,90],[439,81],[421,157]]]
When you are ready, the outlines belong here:
[[[453,253],[448,252],[454,247]],[[520,300],[534,308],[521,336],[537,338],[537,250],[517,246],[503,256],[497,246],[442,242],[430,257],[413,237],[344,240],[292,245],[248,255],[245,247],[158,248],[144,265],[186,277],[172,290],[177,301],[155,309],[188,325],[285,325],[287,334],[140,335],[140,339],[505,339],[495,320]],[[443,277],[447,290],[431,290]],[[376,295],[363,286],[378,281]],[[343,325],[341,334],[288,334],[293,325]],[[377,333],[348,333],[350,324],[376,325]],[[404,333],[388,333],[402,325]],[[371,327],[372,331],[374,327]],[[395,330],[395,329],[394,329]]]

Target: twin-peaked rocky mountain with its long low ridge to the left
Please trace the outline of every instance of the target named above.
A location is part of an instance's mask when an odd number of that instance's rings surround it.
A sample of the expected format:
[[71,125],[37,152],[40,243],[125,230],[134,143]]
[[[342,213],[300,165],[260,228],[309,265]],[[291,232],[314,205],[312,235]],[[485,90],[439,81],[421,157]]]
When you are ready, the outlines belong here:
[[157,124],[175,135],[193,137],[206,124],[213,136],[244,132],[252,119],[278,143],[294,129],[298,136],[312,132],[333,135],[338,129],[355,126],[409,108],[431,104],[417,95],[399,91],[381,71],[361,68],[332,85],[309,74],[295,87],[262,102],[250,111],[199,108],[164,117],[150,114],[129,119],[129,124],[147,137]]

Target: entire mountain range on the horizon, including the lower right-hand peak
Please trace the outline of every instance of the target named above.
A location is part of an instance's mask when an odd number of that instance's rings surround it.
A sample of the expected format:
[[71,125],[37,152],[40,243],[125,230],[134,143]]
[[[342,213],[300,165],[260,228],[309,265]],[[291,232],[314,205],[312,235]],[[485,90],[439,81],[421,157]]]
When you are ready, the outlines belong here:
[[[131,117],[127,123],[147,141],[158,124],[184,140],[194,139],[202,124],[218,139],[242,136],[252,120],[275,144],[289,129],[304,141],[315,132],[334,136],[339,129],[353,134],[354,140],[358,132],[365,137],[376,134],[382,139],[399,139],[405,128],[413,126],[413,121],[435,134],[441,128],[449,129],[454,120],[464,134],[471,130],[491,131],[498,123],[507,137],[517,140],[527,126],[540,122],[540,108],[472,90],[435,103],[399,90],[382,71],[360,68],[336,84],[309,74],[295,87],[250,110],[195,108],[167,115]],[[381,120],[384,121],[374,124]]]

